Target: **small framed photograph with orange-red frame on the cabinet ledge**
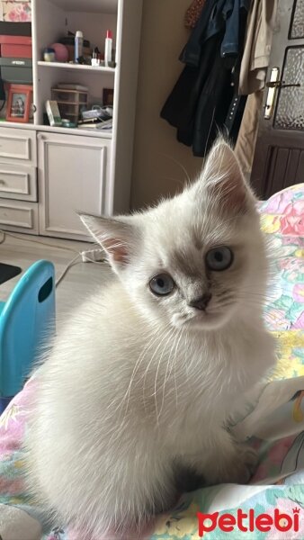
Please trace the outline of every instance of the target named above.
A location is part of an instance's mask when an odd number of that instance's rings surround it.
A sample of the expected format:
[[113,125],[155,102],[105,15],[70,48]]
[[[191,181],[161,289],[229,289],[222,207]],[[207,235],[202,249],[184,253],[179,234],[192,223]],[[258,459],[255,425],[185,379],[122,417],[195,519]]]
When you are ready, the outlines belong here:
[[31,85],[9,85],[6,120],[28,122],[30,120],[31,103]]

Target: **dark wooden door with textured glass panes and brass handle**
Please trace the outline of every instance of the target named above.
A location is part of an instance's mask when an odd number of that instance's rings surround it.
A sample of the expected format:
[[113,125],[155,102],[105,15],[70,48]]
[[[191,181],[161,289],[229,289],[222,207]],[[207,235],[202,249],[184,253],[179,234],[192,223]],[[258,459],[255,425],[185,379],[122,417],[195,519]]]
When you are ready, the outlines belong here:
[[304,0],[279,0],[251,183],[268,198],[303,181]]

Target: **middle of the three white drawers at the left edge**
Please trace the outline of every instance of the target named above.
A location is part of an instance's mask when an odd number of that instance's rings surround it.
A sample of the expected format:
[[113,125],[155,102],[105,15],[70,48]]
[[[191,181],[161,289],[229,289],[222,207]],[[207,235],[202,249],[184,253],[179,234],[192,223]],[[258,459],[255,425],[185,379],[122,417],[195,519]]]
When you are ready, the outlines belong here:
[[37,201],[36,168],[0,163],[0,197]]

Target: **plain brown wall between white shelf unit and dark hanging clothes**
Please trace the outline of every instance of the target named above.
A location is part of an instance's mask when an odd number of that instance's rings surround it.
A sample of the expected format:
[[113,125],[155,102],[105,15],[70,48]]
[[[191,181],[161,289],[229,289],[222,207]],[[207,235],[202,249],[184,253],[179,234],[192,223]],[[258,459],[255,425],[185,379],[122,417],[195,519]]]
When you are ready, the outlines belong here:
[[[175,193],[193,178],[201,158],[178,143],[175,129],[159,112],[183,69],[178,56],[188,40],[183,17],[191,0],[144,0],[139,60],[139,90],[135,128],[131,207]],[[180,165],[178,165],[178,162]]]

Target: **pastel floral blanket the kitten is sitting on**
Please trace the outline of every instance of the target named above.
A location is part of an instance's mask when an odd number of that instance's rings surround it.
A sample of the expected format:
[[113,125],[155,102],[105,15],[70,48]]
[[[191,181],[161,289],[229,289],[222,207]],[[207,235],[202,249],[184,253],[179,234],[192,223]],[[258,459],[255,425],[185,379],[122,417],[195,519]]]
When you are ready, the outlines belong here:
[[[231,427],[259,451],[259,466],[249,485],[183,495],[156,519],[150,540],[304,538],[304,184],[276,193],[260,211],[278,253],[264,317],[278,338],[279,363],[250,413]],[[30,381],[0,419],[0,539],[83,540],[64,524],[50,530],[24,492],[20,446],[32,389]]]

